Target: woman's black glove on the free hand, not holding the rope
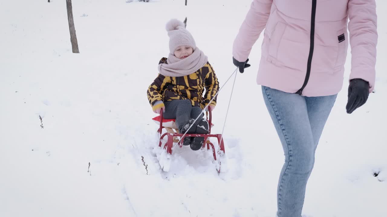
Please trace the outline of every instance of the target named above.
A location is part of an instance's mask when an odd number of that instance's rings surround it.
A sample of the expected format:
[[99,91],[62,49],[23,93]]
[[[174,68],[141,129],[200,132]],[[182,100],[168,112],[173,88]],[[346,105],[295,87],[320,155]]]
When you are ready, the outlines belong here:
[[360,78],[349,81],[347,113],[351,114],[356,108],[364,105],[370,95],[370,84]]

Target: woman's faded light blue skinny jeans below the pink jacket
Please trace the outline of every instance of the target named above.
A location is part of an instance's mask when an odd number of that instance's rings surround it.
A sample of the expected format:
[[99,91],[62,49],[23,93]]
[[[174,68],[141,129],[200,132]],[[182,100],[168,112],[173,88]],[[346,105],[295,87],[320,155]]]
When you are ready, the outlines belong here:
[[316,147],[337,94],[304,97],[266,86],[262,86],[262,94],[285,154],[277,188],[277,215],[300,217]]

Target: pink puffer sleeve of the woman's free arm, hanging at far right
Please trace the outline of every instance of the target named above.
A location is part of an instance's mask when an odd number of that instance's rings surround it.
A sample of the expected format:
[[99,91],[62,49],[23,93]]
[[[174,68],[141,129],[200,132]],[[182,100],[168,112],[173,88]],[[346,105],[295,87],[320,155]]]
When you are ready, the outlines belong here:
[[376,44],[378,41],[375,0],[349,0],[349,42],[351,44],[351,75],[375,86]]

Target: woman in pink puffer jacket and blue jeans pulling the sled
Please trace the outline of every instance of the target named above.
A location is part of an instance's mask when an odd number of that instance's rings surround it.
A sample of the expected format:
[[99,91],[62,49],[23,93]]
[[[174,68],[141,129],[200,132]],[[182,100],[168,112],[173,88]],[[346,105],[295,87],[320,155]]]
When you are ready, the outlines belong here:
[[351,114],[375,84],[375,0],[254,0],[233,44],[241,73],[264,31],[257,83],[281,140],[285,163],[277,216],[300,217],[315,150],[342,88],[351,41],[348,103]]

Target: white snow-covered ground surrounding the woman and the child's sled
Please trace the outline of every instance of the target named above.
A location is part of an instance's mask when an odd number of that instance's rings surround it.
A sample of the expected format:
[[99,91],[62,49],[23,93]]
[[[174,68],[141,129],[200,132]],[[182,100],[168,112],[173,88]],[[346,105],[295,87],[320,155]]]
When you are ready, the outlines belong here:
[[[232,42],[250,2],[73,0],[80,50],[73,54],[65,1],[2,0],[0,216],[274,217],[284,157],[255,83],[262,38],[252,67],[236,77],[219,176],[210,152],[189,147],[175,148],[170,171],[161,170],[146,97],[168,54],[171,18],[188,17],[223,85],[235,69]],[[305,215],[387,216],[386,7],[377,0],[376,93],[348,115],[344,82],[317,149]],[[215,133],[231,86],[219,93]]]

